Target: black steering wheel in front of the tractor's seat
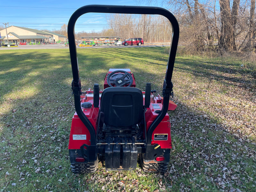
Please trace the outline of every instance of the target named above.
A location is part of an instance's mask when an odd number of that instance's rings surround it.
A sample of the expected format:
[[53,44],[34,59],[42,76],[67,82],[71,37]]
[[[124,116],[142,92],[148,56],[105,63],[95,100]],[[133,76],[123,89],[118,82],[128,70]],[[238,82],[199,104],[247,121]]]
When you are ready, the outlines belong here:
[[[111,77],[116,74],[116,73],[119,73],[118,75],[122,75],[121,77],[118,77],[116,79],[111,79]],[[122,74],[124,73],[124,74]],[[128,78],[130,78],[129,80],[125,80],[124,78],[128,76]],[[112,84],[115,84],[116,87],[124,87],[126,84],[129,84],[128,87],[130,87],[133,83],[133,79],[132,79],[132,75],[126,71],[122,71],[122,70],[116,70],[116,71],[113,71],[112,73],[110,73],[108,75],[108,78],[107,78],[107,83],[110,87],[113,87],[111,85]]]

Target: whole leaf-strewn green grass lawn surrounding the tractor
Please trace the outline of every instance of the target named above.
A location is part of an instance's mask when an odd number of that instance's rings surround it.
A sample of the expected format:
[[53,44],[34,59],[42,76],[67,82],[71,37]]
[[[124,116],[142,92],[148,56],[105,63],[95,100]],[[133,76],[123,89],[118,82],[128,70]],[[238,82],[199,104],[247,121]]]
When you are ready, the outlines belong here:
[[[161,93],[164,47],[77,49],[82,90],[109,68],[130,68],[138,88]],[[0,191],[254,191],[256,83],[239,60],[176,57],[168,172],[71,172],[75,112],[67,49],[0,52]]]

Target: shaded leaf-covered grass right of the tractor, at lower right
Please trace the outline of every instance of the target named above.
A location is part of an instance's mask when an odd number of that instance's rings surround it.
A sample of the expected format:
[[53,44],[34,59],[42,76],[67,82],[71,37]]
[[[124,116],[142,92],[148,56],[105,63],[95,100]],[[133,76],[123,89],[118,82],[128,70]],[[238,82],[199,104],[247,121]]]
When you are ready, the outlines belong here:
[[[166,182],[173,184],[172,190],[209,188],[217,192],[231,187],[244,190],[244,186],[250,186],[246,191],[252,190],[253,181],[243,178],[247,165],[254,164],[256,147],[253,141],[238,133],[229,133],[224,124],[219,124],[204,111],[197,111],[181,100],[176,102],[178,107],[169,112],[173,148],[170,170],[165,177]],[[246,154],[250,154],[250,158],[246,158]],[[230,170],[238,168],[239,173],[230,174]],[[249,175],[252,177],[255,173],[250,171]],[[226,186],[228,180],[232,185]]]

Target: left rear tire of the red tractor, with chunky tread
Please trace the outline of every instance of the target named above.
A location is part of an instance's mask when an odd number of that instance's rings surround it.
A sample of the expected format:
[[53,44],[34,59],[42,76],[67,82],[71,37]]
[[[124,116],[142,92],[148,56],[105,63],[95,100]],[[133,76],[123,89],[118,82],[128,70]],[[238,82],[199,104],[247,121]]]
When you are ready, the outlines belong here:
[[72,163],[70,165],[71,171],[76,174],[80,173],[94,173],[98,168],[98,156],[96,161],[92,163]]

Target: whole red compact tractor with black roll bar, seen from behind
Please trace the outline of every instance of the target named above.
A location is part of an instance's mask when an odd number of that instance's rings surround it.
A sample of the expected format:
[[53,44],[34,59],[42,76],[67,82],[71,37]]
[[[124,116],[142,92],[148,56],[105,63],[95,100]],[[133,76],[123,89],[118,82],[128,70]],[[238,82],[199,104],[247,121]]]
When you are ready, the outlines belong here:
[[[147,83],[145,92],[136,88],[130,69],[109,69],[104,90],[81,91],[74,27],[84,13],[159,14],[172,24],[172,44],[163,85],[163,97]],[[168,110],[177,105],[172,95],[172,71],[179,39],[179,25],[169,11],[158,7],[87,5],[73,13],[68,22],[72,90],[76,113],[72,118],[69,156],[72,172],[92,173],[98,161],[106,170],[134,170],[138,155],[145,172],[165,172],[170,161],[171,125]],[[97,64],[97,63],[96,63]]]

